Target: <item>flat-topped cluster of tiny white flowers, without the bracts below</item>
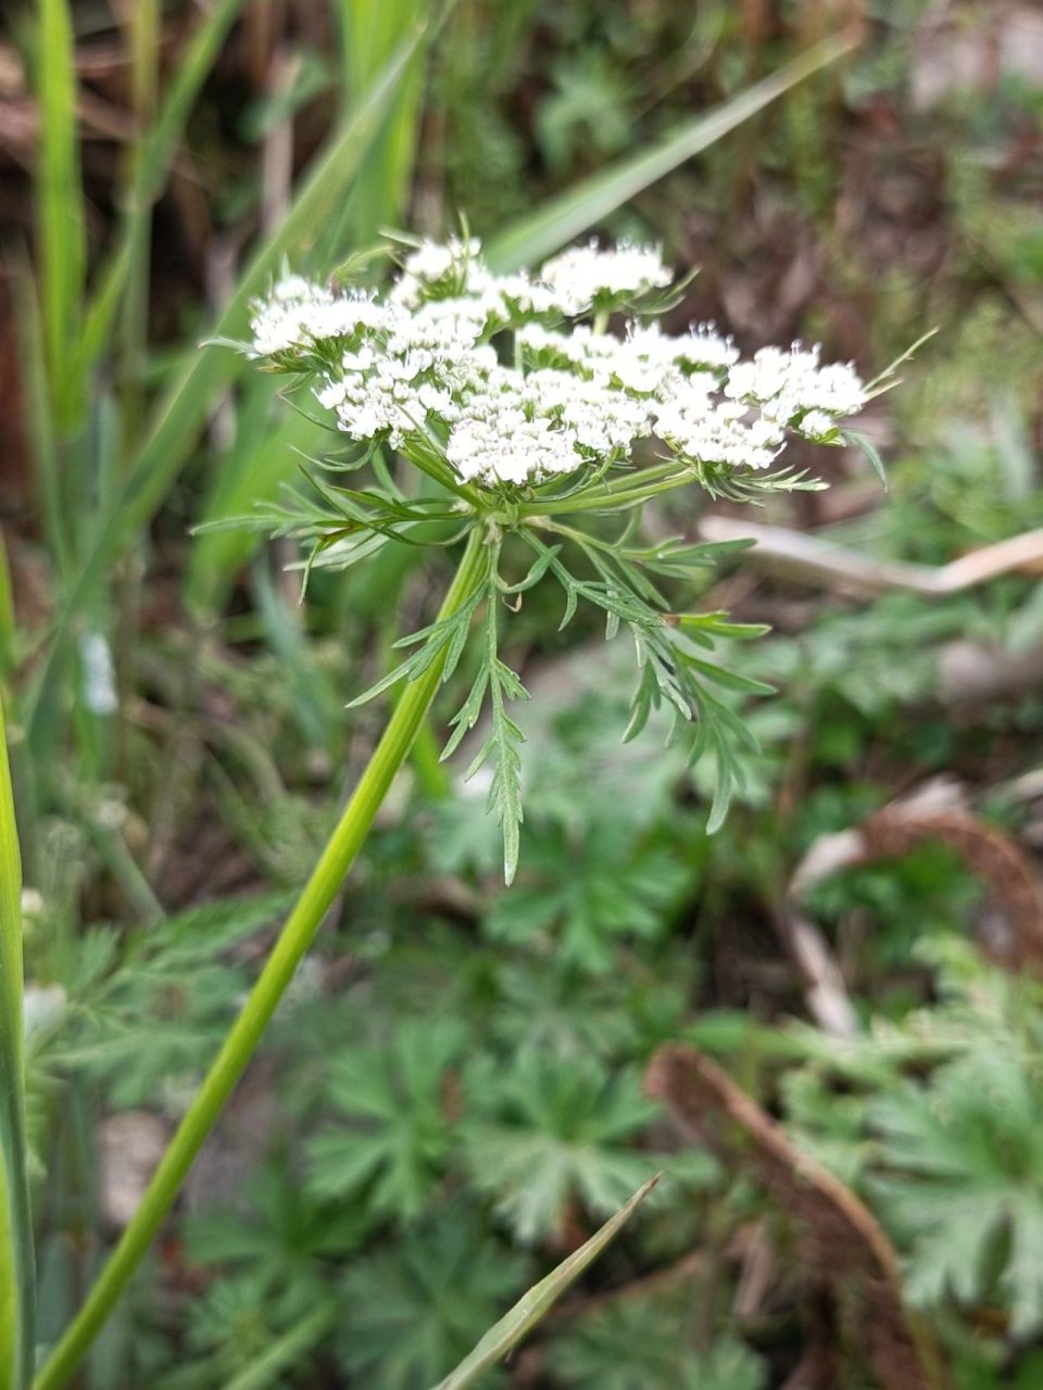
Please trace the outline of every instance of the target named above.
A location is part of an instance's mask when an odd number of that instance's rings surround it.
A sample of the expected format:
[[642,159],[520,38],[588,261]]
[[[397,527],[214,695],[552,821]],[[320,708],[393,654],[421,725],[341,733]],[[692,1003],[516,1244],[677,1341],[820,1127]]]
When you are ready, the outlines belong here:
[[434,446],[494,489],[623,460],[642,439],[684,461],[765,468],[787,431],[836,439],[864,404],[854,370],[820,366],[818,349],[741,361],[708,327],[599,331],[669,281],[652,247],[573,247],[538,275],[495,275],[477,240],[424,242],[382,297],[284,279],[256,310],[250,350],[317,374],[352,439],[406,456]]

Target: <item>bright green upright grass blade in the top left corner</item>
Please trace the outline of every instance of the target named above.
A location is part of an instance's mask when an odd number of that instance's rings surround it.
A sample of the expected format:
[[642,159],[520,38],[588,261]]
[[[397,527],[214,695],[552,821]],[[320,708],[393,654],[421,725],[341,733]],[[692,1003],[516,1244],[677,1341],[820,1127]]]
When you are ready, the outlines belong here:
[[40,0],[36,33],[40,107],[38,239],[50,395],[58,421],[72,407],[67,361],[79,338],[85,234],[76,146],[76,74],[65,0]]

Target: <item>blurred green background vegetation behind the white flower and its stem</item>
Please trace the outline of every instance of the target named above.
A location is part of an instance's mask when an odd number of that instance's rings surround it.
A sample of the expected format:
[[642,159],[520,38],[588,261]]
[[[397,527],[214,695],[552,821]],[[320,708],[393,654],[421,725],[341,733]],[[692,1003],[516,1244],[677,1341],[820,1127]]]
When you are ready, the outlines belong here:
[[[107,1136],[184,1109],[380,728],[378,706],[345,705],[444,587],[437,564],[388,548],[357,571],[317,569],[300,607],[285,545],[189,539],[274,498],[293,450],[321,443],[270,379],[236,378],[200,336],[238,331],[284,257],[325,272],[388,222],[442,232],[466,213],[508,256],[533,208],[854,17],[854,54],[637,178],[592,231],[698,265],[679,321],[718,318],[744,348],[822,339],[873,375],[940,328],[871,421],[887,496],[844,453],[832,493],[773,499],[755,520],[925,564],[1037,527],[1040,79],[1001,65],[926,100],[930,64],[1019,13],[954,8],[939,24],[923,0],[459,0],[446,15],[417,0],[140,0],[121,25],[47,0],[13,17],[40,124],[38,152],[3,167],[24,197],[3,225],[17,385],[0,671],[28,888],[42,1343],[114,1234],[113,1187],[138,1180]],[[125,46],[127,71],[104,68],[106,43]],[[131,133],[99,143],[90,100]],[[213,288],[229,256],[231,297]],[[700,510],[688,498],[655,516],[654,538],[693,535]],[[954,641],[1037,651],[1033,575],[852,599],[734,556],[686,581],[688,603],[775,627],[729,645],[777,694],[729,695],[761,752],[743,755],[713,838],[708,770],[662,746],[655,714],[622,745],[629,653],[605,648],[597,617],[559,634],[547,589],[510,624],[533,695],[516,706],[516,884],[501,887],[484,794],[421,741],[86,1384],[428,1390],[663,1170],[487,1383],[783,1386],[811,1336],[786,1213],[641,1091],[656,1045],[691,1040],[869,1204],[961,1390],[1028,1390],[1043,1375],[1036,983],[967,944],[983,890],[937,845],[808,898],[855,1038],[811,1026],[776,929],[820,835],[937,774],[1037,842],[1015,783],[1039,763],[1036,689],[954,712],[939,676]],[[473,678],[464,660],[438,721]],[[467,756],[464,739],[460,766],[478,746]],[[121,1115],[129,1131],[111,1127]],[[737,1297],[751,1232],[775,1259],[752,1312]],[[871,1384],[841,1332],[837,1384]]]

